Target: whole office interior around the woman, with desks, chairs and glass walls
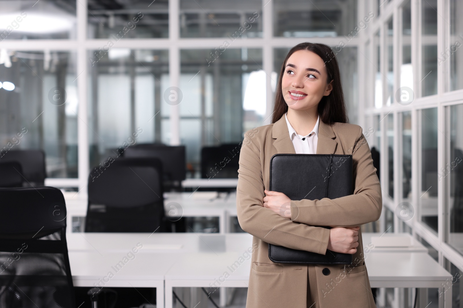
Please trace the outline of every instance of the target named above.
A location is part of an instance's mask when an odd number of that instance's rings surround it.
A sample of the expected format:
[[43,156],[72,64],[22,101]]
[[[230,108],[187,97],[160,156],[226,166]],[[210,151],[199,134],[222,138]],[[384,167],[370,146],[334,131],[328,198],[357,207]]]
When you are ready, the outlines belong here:
[[[236,217],[244,133],[270,124],[289,49],[324,43],[381,182],[382,215],[362,226],[380,248],[371,263],[390,251],[398,276],[395,254],[443,273],[388,283],[366,259],[376,307],[463,307],[462,12],[460,0],[0,0],[0,186],[28,187],[0,192],[1,232],[61,228],[45,238],[65,236],[75,301],[54,307],[245,307],[249,260],[223,284],[233,262],[212,265],[251,238]],[[42,210],[12,210],[40,192]],[[0,253],[6,272],[18,249]],[[126,256],[126,273],[111,270]],[[17,306],[5,307],[51,307],[7,283],[0,302]]]

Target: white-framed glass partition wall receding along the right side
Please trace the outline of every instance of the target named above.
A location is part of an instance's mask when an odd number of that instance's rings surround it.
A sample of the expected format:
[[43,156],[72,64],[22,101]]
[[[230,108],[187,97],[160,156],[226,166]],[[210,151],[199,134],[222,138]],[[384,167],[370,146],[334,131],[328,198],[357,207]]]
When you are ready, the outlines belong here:
[[[367,138],[373,160],[380,161],[380,232],[410,233],[442,266],[462,272],[463,5],[378,2],[379,16],[364,38],[368,50],[358,60],[372,76],[359,103],[364,131],[374,130]],[[462,307],[460,285],[453,282],[452,307]],[[434,304],[437,289],[429,290],[426,304]]]

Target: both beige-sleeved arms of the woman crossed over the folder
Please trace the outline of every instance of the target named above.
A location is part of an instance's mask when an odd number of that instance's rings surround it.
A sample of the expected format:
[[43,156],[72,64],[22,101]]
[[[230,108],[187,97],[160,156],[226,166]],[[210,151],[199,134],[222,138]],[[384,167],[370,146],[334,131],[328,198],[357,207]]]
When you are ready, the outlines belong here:
[[[250,140],[250,137],[245,134],[244,139]],[[377,220],[382,209],[381,188],[361,129],[351,151],[354,195],[337,199],[291,200],[291,217],[295,219],[290,219],[263,206],[265,187],[261,153],[255,143],[243,143],[237,186],[241,228],[270,244],[325,254],[330,230],[317,226],[353,227]]]

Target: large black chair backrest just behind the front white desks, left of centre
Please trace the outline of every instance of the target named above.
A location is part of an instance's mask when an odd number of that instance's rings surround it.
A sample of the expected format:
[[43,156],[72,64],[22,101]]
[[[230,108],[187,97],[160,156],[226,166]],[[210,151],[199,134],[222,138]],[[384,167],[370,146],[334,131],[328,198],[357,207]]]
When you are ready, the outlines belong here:
[[118,158],[88,178],[85,232],[163,232],[162,163]]

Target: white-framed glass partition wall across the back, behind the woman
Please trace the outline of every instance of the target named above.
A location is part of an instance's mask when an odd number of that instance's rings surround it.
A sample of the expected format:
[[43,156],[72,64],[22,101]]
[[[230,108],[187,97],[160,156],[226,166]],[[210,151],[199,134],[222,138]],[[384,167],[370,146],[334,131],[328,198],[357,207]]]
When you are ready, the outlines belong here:
[[333,48],[358,123],[357,45],[374,16],[360,7],[0,0],[0,142],[24,128],[15,149],[43,150],[46,183],[84,195],[89,171],[136,143],[185,145],[186,176],[199,178],[203,147],[270,123],[282,60],[306,41]]

